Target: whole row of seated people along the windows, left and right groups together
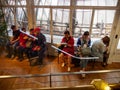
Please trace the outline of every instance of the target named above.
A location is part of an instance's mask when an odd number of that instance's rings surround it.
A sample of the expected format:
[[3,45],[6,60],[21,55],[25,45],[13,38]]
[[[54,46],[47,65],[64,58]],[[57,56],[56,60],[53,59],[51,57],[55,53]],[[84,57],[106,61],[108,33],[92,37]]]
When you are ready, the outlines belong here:
[[[9,40],[6,45],[8,50],[7,57],[18,56],[18,60],[22,61],[24,53],[28,58],[38,56],[37,64],[43,63],[43,56],[46,50],[46,37],[40,32],[40,27],[30,29],[30,34],[26,34],[26,28],[17,30],[15,25],[11,26],[13,31],[13,38]],[[23,33],[24,32],[24,33]],[[85,31],[82,36],[77,40],[77,55],[78,57],[99,57],[105,66],[107,64],[107,48],[109,46],[110,38],[108,36],[103,37],[101,40],[94,41],[91,45],[91,38],[88,31]],[[61,40],[62,50],[68,54],[60,53],[62,67],[65,65],[67,70],[71,70],[72,56],[75,55],[74,50],[74,38],[70,35],[70,32],[66,30],[64,37]],[[80,60],[81,72],[85,71],[88,63],[88,59]],[[82,75],[85,77],[85,75]]]

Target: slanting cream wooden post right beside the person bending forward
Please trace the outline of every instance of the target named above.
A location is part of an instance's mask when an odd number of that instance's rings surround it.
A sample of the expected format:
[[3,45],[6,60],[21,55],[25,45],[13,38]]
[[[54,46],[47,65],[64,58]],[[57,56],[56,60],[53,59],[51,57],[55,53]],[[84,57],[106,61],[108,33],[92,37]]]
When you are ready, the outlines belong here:
[[116,43],[119,41],[116,37],[116,34],[118,34],[120,32],[119,29],[117,29],[119,27],[119,23],[120,23],[120,0],[118,0],[118,4],[117,4],[118,9],[116,10],[115,16],[114,16],[114,21],[113,21],[113,25],[112,25],[112,31],[111,31],[111,35],[110,35],[110,45],[109,45],[109,49],[108,52],[109,54],[109,58],[108,58],[108,63],[112,63],[114,61],[114,57],[115,57],[115,51],[117,48]]

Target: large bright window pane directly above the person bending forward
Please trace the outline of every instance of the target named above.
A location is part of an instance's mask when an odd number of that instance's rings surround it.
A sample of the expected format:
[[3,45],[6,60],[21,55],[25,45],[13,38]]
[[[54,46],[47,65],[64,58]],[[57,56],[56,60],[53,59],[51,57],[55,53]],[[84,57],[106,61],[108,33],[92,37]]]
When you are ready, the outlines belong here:
[[95,10],[92,37],[110,35],[115,10]]

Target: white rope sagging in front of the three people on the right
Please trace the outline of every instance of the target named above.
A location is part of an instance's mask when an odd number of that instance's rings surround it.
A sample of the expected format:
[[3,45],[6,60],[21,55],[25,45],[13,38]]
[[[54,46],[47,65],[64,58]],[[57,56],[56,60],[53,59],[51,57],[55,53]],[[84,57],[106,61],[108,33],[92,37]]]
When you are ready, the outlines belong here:
[[58,47],[56,47],[56,46],[54,46],[54,45],[52,45],[52,48],[54,48],[54,49],[56,49],[56,50],[58,50],[58,51],[61,51],[62,53],[65,53],[65,54],[67,54],[67,55],[69,55],[69,56],[71,56],[71,57],[73,57],[73,58],[76,58],[76,59],[99,59],[99,57],[76,57],[76,56],[74,56],[74,55],[72,55],[72,54],[69,54],[69,53],[67,53],[67,52],[59,49]]

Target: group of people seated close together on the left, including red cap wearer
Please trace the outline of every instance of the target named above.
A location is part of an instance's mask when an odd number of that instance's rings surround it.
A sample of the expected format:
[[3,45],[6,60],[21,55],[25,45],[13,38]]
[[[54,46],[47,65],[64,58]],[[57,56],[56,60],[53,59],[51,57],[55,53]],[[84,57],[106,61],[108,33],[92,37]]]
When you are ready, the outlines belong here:
[[[16,57],[22,61],[24,54],[28,57],[38,56],[36,64],[42,64],[43,55],[46,50],[46,38],[40,32],[40,27],[30,29],[30,34],[26,34],[26,28],[17,30],[15,25],[11,26],[13,37],[6,45],[7,57]],[[41,57],[42,56],[42,57]]]

